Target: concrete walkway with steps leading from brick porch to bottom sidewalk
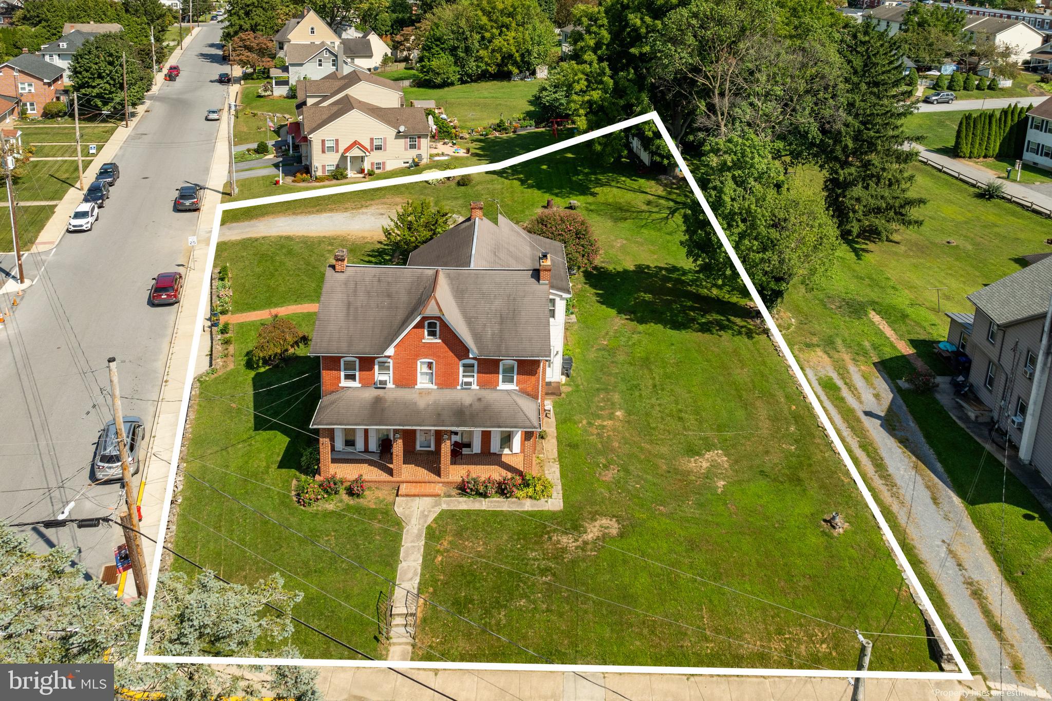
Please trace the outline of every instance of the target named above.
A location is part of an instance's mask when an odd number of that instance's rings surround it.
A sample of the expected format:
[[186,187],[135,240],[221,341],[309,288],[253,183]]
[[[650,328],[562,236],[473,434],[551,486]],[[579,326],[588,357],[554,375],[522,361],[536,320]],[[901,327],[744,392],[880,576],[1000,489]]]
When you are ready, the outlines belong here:
[[[424,536],[427,524],[439,512],[441,506],[430,503],[434,499],[399,497],[394,500],[394,513],[405,529],[402,531],[402,550],[399,554],[398,586],[391,593],[391,631],[388,660],[408,660],[412,657],[413,639],[417,636],[417,602],[420,591],[420,570],[424,559]],[[411,593],[411,594],[410,594]]]

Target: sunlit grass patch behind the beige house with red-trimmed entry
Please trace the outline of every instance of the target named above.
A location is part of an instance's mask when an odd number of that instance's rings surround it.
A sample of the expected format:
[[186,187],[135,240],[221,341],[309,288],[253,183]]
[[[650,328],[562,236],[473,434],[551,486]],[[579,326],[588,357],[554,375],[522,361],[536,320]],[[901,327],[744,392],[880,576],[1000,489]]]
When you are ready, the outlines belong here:
[[530,99],[541,81],[484,81],[452,87],[406,87],[403,88],[405,103],[410,100],[434,100],[444,107],[449,117],[456,117],[463,129],[489,126],[504,117],[515,115],[530,117],[533,107]]

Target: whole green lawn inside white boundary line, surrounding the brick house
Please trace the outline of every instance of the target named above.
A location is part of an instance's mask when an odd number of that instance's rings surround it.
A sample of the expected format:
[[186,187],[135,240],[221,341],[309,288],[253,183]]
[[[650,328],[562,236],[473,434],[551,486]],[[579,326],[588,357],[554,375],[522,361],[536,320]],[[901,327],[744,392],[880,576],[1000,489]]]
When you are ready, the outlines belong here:
[[[316,200],[313,210],[330,206],[328,200],[339,200],[344,209],[375,204],[380,192],[352,194]],[[919,613],[872,516],[769,338],[749,321],[741,290],[708,284],[687,263],[679,218],[667,217],[689,197],[685,189],[639,176],[627,165],[602,166],[581,147],[501,176],[476,176],[471,187],[396,186],[380,197],[428,197],[461,213],[469,201],[482,200],[490,218],[497,214],[492,200],[500,200],[515,221],[530,217],[548,197],[560,203],[574,199],[604,248],[600,267],[573,279],[578,324],[569,327],[566,352],[576,360],[575,372],[564,396],[555,399],[565,510],[531,512],[539,520],[513,512],[443,512],[428,529],[428,540],[692,630],[433,544],[424,556],[425,596],[557,662],[837,668],[855,663],[857,643],[850,630],[644,564],[550,524],[592,533],[620,549],[848,628],[924,635]],[[317,302],[321,271],[339,243],[324,238],[234,241],[220,245],[217,261],[230,265],[237,309]],[[369,247],[358,245],[350,253],[368,260]],[[284,280],[289,283],[276,285]],[[259,291],[248,289],[252,286]],[[215,394],[246,391],[247,383],[234,378],[250,374],[241,369],[240,349],[255,327],[236,328],[239,359],[235,370],[207,382]],[[279,382],[313,368],[317,362],[271,374]],[[229,384],[222,392],[210,389],[219,382]],[[287,487],[291,473],[283,468],[295,460],[257,441],[277,436],[284,451],[288,437],[231,429],[228,405],[217,405],[203,407],[210,413],[195,419],[189,453],[246,441],[225,450],[222,465]],[[290,413],[288,421],[305,426],[312,407],[313,398],[306,400],[302,416],[292,420]],[[222,477],[208,474],[209,479]],[[226,484],[246,500],[264,499],[250,483],[231,478]],[[380,561],[383,551],[387,571],[393,569],[397,547],[386,540],[378,547],[360,531],[348,534],[342,521],[330,522],[330,513],[305,514],[285,495],[272,494],[266,502],[271,513],[310,523],[318,533],[330,529],[330,541],[348,552],[369,553]],[[239,539],[277,537],[269,529],[256,534],[258,519],[231,513],[228,503],[197,488],[184,491],[180,509],[221,515]],[[834,510],[850,523],[839,537],[822,524]],[[311,581],[340,580],[341,595],[360,597],[356,587],[371,586],[376,596],[375,582],[360,581],[346,563],[333,563],[287,535],[278,539],[281,553],[274,555],[275,562]],[[365,541],[368,548],[362,547]],[[197,549],[206,565],[222,564],[231,573],[247,568],[254,579],[267,572],[200,532],[180,532],[177,549],[181,543]],[[828,585],[831,581],[836,585]],[[319,622],[312,612],[298,613]],[[370,630],[367,621],[331,604],[320,620],[351,641]],[[553,628],[560,634],[551,635]],[[452,660],[538,661],[433,607],[422,614],[419,641]],[[325,650],[304,639],[298,644],[308,656]],[[935,667],[922,638],[884,637],[874,647],[873,668]]]

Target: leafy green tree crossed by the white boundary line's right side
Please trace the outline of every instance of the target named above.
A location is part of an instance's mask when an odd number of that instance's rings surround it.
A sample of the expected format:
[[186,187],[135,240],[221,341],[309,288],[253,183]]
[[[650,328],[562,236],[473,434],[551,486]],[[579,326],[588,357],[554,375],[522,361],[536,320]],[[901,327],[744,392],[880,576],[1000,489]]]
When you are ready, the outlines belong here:
[[[751,133],[712,140],[694,173],[760,296],[776,306],[789,286],[818,281],[841,245],[817,185],[788,178],[771,144]],[[734,283],[737,272],[696,201],[684,212],[687,256],[707,277]]]

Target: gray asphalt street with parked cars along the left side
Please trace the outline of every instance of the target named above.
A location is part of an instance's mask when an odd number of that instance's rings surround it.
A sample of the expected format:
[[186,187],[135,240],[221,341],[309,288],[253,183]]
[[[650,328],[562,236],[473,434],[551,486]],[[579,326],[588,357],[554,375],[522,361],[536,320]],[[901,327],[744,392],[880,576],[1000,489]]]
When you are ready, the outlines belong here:
[[[179,60],[179,79],[139,107],[146,112],[117,153],[121,178],[94,230],[24,259],[36,282],[0,332],[0,519],[116,516],[120,484],[89,479],[100,429],[113,416],[110,355],[124,415],[143,419],[149,445],[177,311],[150,306],[149,288],[159,272],[181,269],[197,230],[198,213],[176,212],[174,199],[180,185],[207,181],[219,127],[205,110],[222,108],[226,96],[216,82],[220,32],[203,25]],[[13,259],[0,256],[0,268],[11,270]],[[41,551],[73,547],[92,577],[114,561],[121,539],[116,527],[22,530]]]

